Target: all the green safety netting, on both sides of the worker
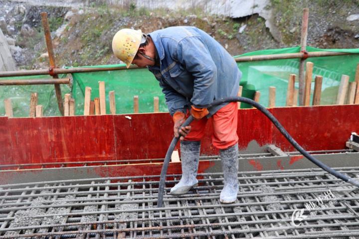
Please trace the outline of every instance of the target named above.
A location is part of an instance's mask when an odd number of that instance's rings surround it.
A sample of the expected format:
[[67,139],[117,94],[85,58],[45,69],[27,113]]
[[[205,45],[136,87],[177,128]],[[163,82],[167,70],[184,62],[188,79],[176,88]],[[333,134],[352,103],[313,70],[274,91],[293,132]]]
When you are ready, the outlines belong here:
[[[334,51],[359,53],[359,49],[319,49],[307,47],[308,52],[313,51]],[[240,56],[255,56],[283,53],[300,52],[300,47],[261,50],[249,52]],[[239,57],[239,56],[235,56]],[[307,61],[314,63],[312,92],[314,89],[315,76],[323,76],[322,105],[335,104],[341,76],[348,75],[350,81],[354,81],[359,55],[343,55],[330,57],[308,58]],[[242,96],[253,99],[255,91],[261,93],[259,103],[268,106],[269,87],[276,87],[276,106],[285,106],[288,79],[290,74],[298,75],[300,59],[263,60],[253,62],[238,62],[238,67],[243,76],[240,85],[243,86]],[[85,66],[85,67],[118,67],[121,65]],[[51,78],[50,76],[17,77],[17,79]],[[102,71],[88,73],[73,73],[71,88],[62,85],[62,94],[71,91],[75,99],[76,115],[83,115],[85,87],[91,87],[91,100],[99,97],[98,82],[104,81],[106,88],[106,111],[109,110],[108,93],[115,91],[116,113],[133,113],[133,97],[139,96],[140,113],[154,111],[153,99],[159,97],[160,111],[167,112],[164,95],[153,74],[147,69],[128,69],[119,71]],[[6,78],[2,78],[6,79]],[[13,77],[11,79],[14,79]],[[295,87],[298,89],[298,79]],[[28,105],[31,92],[37,92],[39,105],[44,106],[45,116],[58,116],[56,97],[52,85],[42,86],[3,86],[0,88],[0,99],[10,98],[12,100],[14,117],[28,116]],[[248,108],[241,104],[241,108]],[[3,101],[0,101],[0,115],[4,114]]]

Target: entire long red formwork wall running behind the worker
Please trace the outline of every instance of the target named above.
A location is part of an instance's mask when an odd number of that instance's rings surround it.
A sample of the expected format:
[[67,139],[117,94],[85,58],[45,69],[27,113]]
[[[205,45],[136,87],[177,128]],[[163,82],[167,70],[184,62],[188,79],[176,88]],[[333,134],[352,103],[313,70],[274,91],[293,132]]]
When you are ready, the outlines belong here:
[[[359,105],[269,109],[307,150],[345,148],[359,132]],[[239,148],[255,140],[294,150],[275,126],[256,109],[238,111]],[[217,154],[208,120],[202,155]],[[168,113],[106,116],[0,118],[1,164],[79,162],[164,158],[173,137]]]

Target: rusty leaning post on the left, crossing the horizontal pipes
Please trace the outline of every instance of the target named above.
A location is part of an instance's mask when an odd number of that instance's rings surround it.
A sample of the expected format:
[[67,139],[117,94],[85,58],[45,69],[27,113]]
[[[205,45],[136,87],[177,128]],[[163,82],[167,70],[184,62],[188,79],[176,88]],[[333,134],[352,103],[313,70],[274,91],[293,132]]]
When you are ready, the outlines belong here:
[[[50,69],[54,69],[54,68],[56,68],[55,54],[53,52],[53,47],[52,47],[50,27],[49,27],[48,21],[47,21],[47,12],[41,12],[40,15],[41,15],[42,27],[43,27],[44,34],[45,34],[47,53],[49,55]],[[52,75],[52,78],[57,79],[58,76],[56,74],[54,74],[54,75]],[[61,88],[60,88],[59,84],[55,84],[54,86],[55,86],[55,92],[56,92],[57,105],[58,105],[61,115],[63,116],[64,109],[63,109],[63,103],[62,103]]]

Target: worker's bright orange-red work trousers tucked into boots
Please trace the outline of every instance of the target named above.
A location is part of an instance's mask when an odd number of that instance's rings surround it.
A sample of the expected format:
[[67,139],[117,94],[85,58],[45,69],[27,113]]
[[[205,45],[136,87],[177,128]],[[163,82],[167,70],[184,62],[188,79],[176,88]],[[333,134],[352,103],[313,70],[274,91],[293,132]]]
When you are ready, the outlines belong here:
[[[237,135],[237,120],[238,120],[238,107],[237,102],[231,102],[228,105],[219,109],[212,118],[213,134],[212,144],[218,149],[226,149],[233,146],[238,142]],[[186,117],[189,116],[187,112]],[[187,141],[199,141],[204,135],[205,125],[207,118],[196,120],[191,122],[191,130],[184,137]]]

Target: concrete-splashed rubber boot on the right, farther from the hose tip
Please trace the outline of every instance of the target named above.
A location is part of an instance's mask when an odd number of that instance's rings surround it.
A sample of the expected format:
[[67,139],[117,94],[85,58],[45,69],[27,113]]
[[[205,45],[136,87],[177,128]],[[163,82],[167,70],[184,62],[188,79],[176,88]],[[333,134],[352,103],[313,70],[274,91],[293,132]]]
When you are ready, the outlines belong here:
[[233,203],[238,193],[238,144],[219,150],[224,186],[219,196],[221,203]]

